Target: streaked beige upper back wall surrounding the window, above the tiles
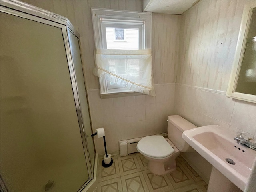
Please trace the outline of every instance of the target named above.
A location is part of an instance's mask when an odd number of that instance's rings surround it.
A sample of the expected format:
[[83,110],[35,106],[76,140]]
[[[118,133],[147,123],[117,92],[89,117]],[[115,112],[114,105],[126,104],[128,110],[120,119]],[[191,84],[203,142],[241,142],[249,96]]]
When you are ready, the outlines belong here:
[[[91,7],[142,11],[142,0],[24,0],[29,4],[67,17],[80,33],[86,89],[98,89],[98,77],[92,74],[94,64],[94,32]],[[178,15],[153,14],[152,68],[155,84],[175,82],[178,61]]]

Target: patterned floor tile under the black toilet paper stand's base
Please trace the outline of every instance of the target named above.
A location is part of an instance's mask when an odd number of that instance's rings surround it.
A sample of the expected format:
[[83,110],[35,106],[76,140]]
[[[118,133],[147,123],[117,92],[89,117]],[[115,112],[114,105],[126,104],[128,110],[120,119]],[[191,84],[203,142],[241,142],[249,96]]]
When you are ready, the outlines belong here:
[[109,179],[120,177],[120,171],[118,166],[117,159],[113,160],[113,164],[110,167],[103,167],[102,160],[100,159],[98,162],[98,181],[106,181]]

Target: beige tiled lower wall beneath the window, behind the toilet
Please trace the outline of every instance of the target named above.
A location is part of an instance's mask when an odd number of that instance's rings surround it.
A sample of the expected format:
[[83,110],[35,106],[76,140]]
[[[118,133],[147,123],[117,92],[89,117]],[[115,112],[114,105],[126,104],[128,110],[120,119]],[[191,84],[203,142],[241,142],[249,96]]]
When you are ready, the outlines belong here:
[[[119,150],[118,141],[167,131],[167,116],[174,114],[175,83],[156,85],[156,96],[100,98],[88,90],[92,127],[104,127],[108,152]],[[102,138],[94,138],[96,151],[104,154]]]

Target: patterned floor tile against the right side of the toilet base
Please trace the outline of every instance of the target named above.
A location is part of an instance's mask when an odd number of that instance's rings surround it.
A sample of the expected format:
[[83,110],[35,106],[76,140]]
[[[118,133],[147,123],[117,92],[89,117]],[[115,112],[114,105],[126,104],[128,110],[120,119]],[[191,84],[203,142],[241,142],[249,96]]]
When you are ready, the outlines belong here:
[[180,162],[176,162],[177,169],[173,172],[167,174],[170,182],[174,186],[175,189],[191,185],[195,183],[192,177],[186,172],[184,167],[180,164]]

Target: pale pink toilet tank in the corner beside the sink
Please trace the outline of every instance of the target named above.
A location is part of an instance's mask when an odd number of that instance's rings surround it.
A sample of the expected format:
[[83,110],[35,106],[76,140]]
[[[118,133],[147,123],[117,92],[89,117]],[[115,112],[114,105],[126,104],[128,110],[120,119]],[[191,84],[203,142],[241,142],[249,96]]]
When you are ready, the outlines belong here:
[[196,127],[179,115],[168,116],[168,138],[181,152],[186,152],[189,148],[189,144],[182,138],[182,133]]

